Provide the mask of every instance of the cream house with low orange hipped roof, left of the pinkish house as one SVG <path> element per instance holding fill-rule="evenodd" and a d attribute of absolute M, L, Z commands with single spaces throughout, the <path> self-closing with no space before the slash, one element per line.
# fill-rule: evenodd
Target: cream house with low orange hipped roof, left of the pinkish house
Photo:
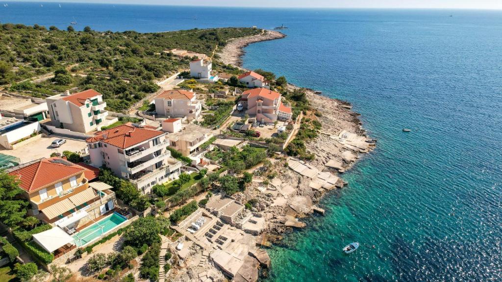
<path fill-rule="evenodd" d="M 155 111 L 165 117 L 186 117 L 188 121 L 199 118 L 202 103 L 195 99 L 195 92 L 173 89 L 155 97 Z"/>

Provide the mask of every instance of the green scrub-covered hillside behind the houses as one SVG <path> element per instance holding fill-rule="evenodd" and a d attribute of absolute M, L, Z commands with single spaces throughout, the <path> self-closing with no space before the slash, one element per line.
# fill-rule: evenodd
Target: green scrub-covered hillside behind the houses
<path fill-rule="evenodd" d="M 0 87 L 35 97 L 93 88 L 103 94 L 109 110 L 125 111 L 158 89 L 154 80 L 188 67 L 192 58 L 179 58 L 169 50 L 179 48 L 211 56 L 216 46 L 225 45 L 228 39 L 259 32 L 252 28 L 75 32 L 3 24 Z M 56 76 L 45 81 L 26 80 L 54 72 Z"/>

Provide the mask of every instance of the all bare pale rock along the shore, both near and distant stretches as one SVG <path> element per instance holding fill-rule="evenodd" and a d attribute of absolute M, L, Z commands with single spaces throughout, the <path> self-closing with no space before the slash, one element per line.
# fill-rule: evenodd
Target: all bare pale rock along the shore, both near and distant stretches
<path fill-rule="evenodd" d="M 263 31 L 260 35 L 229 40 L 218 53 L 220 62 L 242 69 L 241 56 L 244 47 L 255 42 L 284 37 L 280 32 Z M 173 281 L 196 279 L 199 271 L 204 271 L 199 275 L 211 273 L 213 278 L 218 276 L 216 273 L 221 275 L 223 272 L 228 275 L 232 272 L 234 281 L 256 281 L 259 279 L 260 267 L 273 267 L 264 250 L 281 240 L 285 233 L 295 228 L 304 228 L 306 224 L 299 219 L 314 212 L 324 214 L 324 210 L 317 206 L 322 196 L 327 191 L 343 188 L 345 183 L 340 174 L 350 169 L 363 154 L 375 147 L 375 140 L 368 138 L 358 118 L 359 114 L 351 110 L 348 102 L 329 98 L 313 89 L 300 88 L 293 84 L 287 84 L 286 89 L 304 91 L 312 109 L 302 112 L 297 123 L 303 124 L 309 120 L 320 123 L 316 136 L 305 141 L 307 152 L 313 154 L 312 157 L 300 159 L 276 154 L 270 158 L 269 171 L 274 171 L 277 176 L 269 181 L 268 176 L 255 174 L 252 183 L 243 192 L 231 197 L 235 203 L 257 203 L 247 217 L 242 216 L 240 223 L 237 223 L 238 229 L 230 227 L 232 230 L 244 230 L 250 234 L 240 231 L 240 235 L 232 237 L 232 242 L 235 241 L 235 247 L 232 248 L 202 247 L 195 251 L 193 257 L 198 257 L 199 252 L 208 251 L 213 263 L 206 263 L 203 268 L 199 266 L 200 269 L 187 267 L 179 270 L 169 277 Z M 218 209 L 224 199 L 224 196 L 213 196 L 206 208 Z M 244 255 L 237 251 L 238 249 L 249 251 Z M 233 260 L 240 261 L 239 266 L 236 267 L 237 263 Z M 264 275 L 266 272 L 260 273 Z"/>

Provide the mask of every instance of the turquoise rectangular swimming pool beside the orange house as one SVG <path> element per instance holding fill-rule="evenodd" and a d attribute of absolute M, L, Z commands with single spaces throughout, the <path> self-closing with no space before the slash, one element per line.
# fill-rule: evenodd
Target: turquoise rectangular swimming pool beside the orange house
<path fill-rule="evenodd" d="M 113 214 L 99 220 L 89 227 L 82 229 L 82 231 L 78 232 L 72 237 L 73 239 L 75 239 L 75 244 L 77 245 L 77 247 L 80 247 L 91 241 L 94 241 L 94 239 L 117 227 L 126 220 L 126 217 L 120 215 L 117 212 L 114 212 Z"/>

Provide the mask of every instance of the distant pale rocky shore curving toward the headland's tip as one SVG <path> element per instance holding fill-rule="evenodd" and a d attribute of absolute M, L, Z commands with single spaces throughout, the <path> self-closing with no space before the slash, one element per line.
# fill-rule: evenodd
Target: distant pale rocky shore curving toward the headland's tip
<path fill-rule="evenodd" d="M 256 42 L 281 39 L 285 37 L 285 34 L 278 31 L 262 30 L 262 33 L 259 35 L 229 40 L 225 47 L 223 47 L 223 49 L 218 53 L 220 56 L 219 60 L 226 65 L 241 67 L 241 58 L 242 55 L 244 55 L 244 48 L 246 46 Z"/>

